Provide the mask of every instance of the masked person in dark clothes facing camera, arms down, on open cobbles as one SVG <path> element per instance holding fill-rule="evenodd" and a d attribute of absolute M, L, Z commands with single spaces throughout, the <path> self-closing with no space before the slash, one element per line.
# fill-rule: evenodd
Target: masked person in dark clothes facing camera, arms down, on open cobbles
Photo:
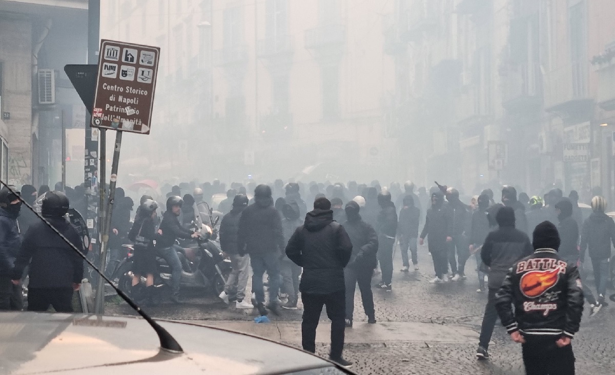
<path fill-rule="evenodd" d="M 451 231 L 453 223 L 450 212 L 444 206 L 444 195 L 436 190 L 431 195 L 431 208 L 427 210 L 425 225 L 419 239 L 423 245 L 425 238 L 429 236 L 429 252 L 434 260 L 435 278 L 431 284 L 440 284 L 446 281 L 448 273 L 448 249 L 447 242 L 453 241 Z"/>

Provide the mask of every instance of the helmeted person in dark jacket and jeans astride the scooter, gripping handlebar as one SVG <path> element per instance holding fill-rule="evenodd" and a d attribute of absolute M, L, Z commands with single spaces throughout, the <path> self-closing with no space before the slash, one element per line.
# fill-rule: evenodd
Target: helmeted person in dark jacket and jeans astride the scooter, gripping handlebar
<path fill-rule="evenodd" d="M 179 196 L 171 196 L 167 199 L 167 211 L 162 215 L 162 222 L 158 230 L 159 236 L 156 239 L 156 250 L 160 257 L 167 261 L 171 268 L 171 301 L 180 301 L 180 282 L 181 282 L 181 261 L 177 255 L 182 251 L 181 247 L 175 244 L 177 239 L 198 238 L 199 233 L 188 230 L 181 226 L 179 215 L 181 205 L 184 203 Z"/>

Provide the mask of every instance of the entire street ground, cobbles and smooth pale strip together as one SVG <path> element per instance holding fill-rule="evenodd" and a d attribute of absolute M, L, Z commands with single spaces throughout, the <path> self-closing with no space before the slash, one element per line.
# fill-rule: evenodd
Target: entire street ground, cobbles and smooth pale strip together
<path fill-rule="evenodd" d="M 367 324 L 357 290 L 355 327 L 347 330 L 345 357 L 355 362 L 358 374 L 523 374 L 521 348 L 510 341 L 504 328 L 496 327 L 490 346 L 491 360 L 478 362 L 474 353 L 486 302 L 480 295 L 474 258 L 467 263 L 468 279 L 445 285 L 431 285 L 431 258 L 426 247 L 419 249 L 417 273 L 399 272 L 395 257 L 393 292 L 374 290 L 376 319 Z M 379 281 L 379 279 L 375 279 Z M 301 311 L 284 311 L 272 316 L 272 323 L 252 322 L 255 312 L 226 307 L 200 291 L 186 293 L 187 303 L 178 310 L 169 303 L 151 309 L 161 319 L 198 320 L 203 325 L 243 331 L 300 347 Z M 587 306 L 586 306 L 587 307 Z M 107 307 L 108 313 L 132 314 L 126 305 Z M 615 360 L 615 309 L 606 307 L 597 317 L 584 313 L 581 331 L 573 341 L 577 373 L 613 373 Z M 499 323 L 498 323 L 499 324 Z M 328 353 L 328 320 L 322 315 L 317 334 L 318 353 Z"/>

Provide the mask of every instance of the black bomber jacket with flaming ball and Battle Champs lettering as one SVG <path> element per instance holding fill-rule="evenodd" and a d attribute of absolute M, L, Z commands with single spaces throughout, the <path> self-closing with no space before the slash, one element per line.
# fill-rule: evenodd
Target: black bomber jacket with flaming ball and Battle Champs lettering
<path fill-rule="evenodd" d="M 508 333 L 573 338 L 583 312 L 579 270 L 557 251 L 538 249 L 510 268 L 496 293 L 496 309 Z"/>

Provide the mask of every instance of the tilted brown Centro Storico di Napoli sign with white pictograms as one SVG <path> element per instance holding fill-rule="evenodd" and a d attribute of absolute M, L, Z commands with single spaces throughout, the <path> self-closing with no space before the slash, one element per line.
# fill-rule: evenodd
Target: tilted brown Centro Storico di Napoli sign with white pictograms
<path fill-rule="evenodd" d="M 149 134 L 160 48 L 100 42 L 92 127 Z"/>

